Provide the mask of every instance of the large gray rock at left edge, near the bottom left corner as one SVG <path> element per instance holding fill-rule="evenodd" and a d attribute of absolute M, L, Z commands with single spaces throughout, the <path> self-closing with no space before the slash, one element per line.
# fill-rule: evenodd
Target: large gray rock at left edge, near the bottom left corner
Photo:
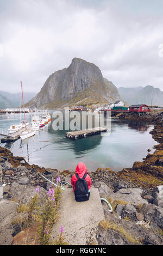
<path fill-rule="evenodd" d="M 17 202 L 0 201 L 0 245 L 11 245 L 14 229 L 11 225 L 17 214 Z"/>

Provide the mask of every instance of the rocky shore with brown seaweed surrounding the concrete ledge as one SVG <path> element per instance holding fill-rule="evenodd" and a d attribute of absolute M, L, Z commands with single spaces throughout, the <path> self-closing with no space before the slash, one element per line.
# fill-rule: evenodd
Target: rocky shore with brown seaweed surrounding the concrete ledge
<path fill-rule="evenodd" d="M 89 173 L 92 186 L 98 188 L 100 196 L 111 203 L 114 211 L 110 213 L 103 202 L 105 220 L 87 237 L 88 244 L 163 244 L 163 113 L 155 114 L 153 121 L 151 134 L 158 142 L 153 154 L 148 153 L 142 162 L 135 162 L 133 168 L 120 172 L 98 168 Z M 50 183 L 40 174 L 54 181 L 60 176 L 61 181 L 68 182 L 72 176 L 68 170 L 60 173 L 57 169 L 29 165 L 23 157 L 14 157 L 9 149 L 0 148 L 0 185 L 5 184 L 0 200 L 1 245 L 24 244 L 20 227 L 11 222 L 18 203 L 27 203 L 36 185 L 40 187 L 41 202 L 45 200 Z M 28 229 L 28 233 L 31 237 L 26 244 L 31 244 L 35 228 Z"/>

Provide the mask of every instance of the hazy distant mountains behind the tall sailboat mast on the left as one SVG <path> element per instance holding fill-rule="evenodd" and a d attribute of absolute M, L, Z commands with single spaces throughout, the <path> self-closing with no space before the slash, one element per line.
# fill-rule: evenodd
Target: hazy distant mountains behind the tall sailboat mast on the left
<path fill-rule="evenodd" d="M 36 93 L 24 93 L 24 103 L 31 100 Z M 20 107 L 21 103 L 21 92 L 20 93 L 8 93 L 0 91 L 0 108 Z"/>

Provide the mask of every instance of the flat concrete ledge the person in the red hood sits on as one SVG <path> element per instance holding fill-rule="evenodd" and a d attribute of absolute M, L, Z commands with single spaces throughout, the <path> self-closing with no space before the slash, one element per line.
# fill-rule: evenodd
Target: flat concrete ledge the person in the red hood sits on
<path fill-rule="evenodd" d="M 72 188 L 67 188 L 62 195 L 60 212 L 61 216 L 54 225 L 52 238 L 57 239 L 62 225 L 69 245 L 86 245 L 92 229 L 104 219 L 97 188 L 91 188 L 90 199 L 86 202 L 76 202 Z"/>

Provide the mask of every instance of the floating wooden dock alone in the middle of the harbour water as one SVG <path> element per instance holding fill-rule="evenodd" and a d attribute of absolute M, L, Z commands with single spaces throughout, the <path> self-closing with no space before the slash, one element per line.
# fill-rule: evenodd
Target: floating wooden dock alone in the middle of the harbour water
<path fill-rule="evenodd" d="M 94 129 L 86 129 L 79 131 L 66 132 L 66 137 L 70 139 L 82 139 L 93 135 L 101 134 L 101 132 L 106 132 L 107 128 L 95 127 Z"/>

